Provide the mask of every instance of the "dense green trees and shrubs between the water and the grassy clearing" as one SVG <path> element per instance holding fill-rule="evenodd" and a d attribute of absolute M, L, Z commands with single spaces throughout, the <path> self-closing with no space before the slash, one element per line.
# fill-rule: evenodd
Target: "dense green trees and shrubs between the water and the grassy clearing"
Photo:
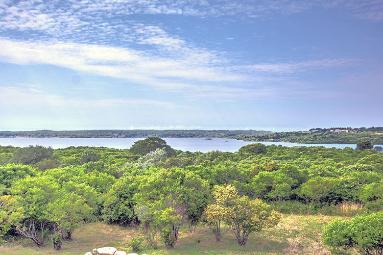
<path fill-rule="evenodd" d="M 161 146 L 152 147 L 152 140 Z M 44 151 L 39 146 L 0 146 L 0 238 L 18 234 L 38 246 L 50 239 L 60 249 L 82 222 L 106 221 L 138 225 L 135 246 L 142 240 L 155 246 L 161 238 L 172 249 L 182 225 L 193 233 L 198 224 L 210 226 L 218 241 L 232 231 L 244 245 L 251 233 L 275 225 L 277 212 L 383 210 L 383 153 L 374 149 L 254 144 L 201 153 L 173 150 L 161 140 L 142 140 L 146 154 L 45 148 L 52 153 L 38 159 L 29 150 Z M 36 160 L 15 164 L 21 156 Z"/>

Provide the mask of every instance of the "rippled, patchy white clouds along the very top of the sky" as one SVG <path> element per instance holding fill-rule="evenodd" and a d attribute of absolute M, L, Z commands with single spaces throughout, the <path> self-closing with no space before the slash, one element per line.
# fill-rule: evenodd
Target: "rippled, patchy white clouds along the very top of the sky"
<path fill-rule="evenodd" d="M 174 46 L 177 37 L 163 34 L 155 23 L 135 20 L 135 14 L 186 15 L 200 17 L 233 17 L 237 19 L 273 18 L 312 8 L 336 8 L 356 18 L 383 20 L 380 0 L 221 0 L 221 1 L 157 1 L 157 0 L 40 0 L 2 1 L 0 30 L 23 32 L 45 38 L 110 44 L 149 43 Z"/>

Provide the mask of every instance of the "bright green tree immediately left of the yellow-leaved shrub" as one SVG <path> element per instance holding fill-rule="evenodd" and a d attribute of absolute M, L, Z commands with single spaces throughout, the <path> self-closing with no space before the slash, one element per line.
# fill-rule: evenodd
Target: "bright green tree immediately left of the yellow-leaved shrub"
<path fill-rule="evenodd" d="M 138 218 L 151 227 L 157 226 L 166 248 L 173 249 L 180 226 L 186 220 L 198 222 L 198 214 L 202 214 L 201 208 L 207 203 L 207 183 L 180 168 L 150 168 L 145 175 L 136 176 L 135 183 L 138 184 L 135 208 L 145 209 L 144 216 L 138 215 Z M 192 203 L 196 205 L 192 207 Z"/>

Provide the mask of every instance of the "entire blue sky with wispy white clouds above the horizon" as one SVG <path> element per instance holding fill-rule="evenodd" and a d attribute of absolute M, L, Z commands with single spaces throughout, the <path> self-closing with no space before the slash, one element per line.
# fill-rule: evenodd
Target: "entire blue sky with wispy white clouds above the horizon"
<path fill-rule="evenodd" d="M 0 130 L 383 126 L 383 0 L 0 0 Z"/>

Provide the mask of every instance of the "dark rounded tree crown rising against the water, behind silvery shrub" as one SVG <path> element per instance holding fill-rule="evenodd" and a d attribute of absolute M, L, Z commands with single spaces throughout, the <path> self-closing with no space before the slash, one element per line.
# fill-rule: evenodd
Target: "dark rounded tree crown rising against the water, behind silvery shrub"
<path fill-rule="evenodd" d="M 165 140 L 155 136 L 135 142 L 129 150 L 132 154 L 143 156 L 158 148 L 165 148 L 167 157 L 175 155 L 174 149 L 167 145 Z"/>

